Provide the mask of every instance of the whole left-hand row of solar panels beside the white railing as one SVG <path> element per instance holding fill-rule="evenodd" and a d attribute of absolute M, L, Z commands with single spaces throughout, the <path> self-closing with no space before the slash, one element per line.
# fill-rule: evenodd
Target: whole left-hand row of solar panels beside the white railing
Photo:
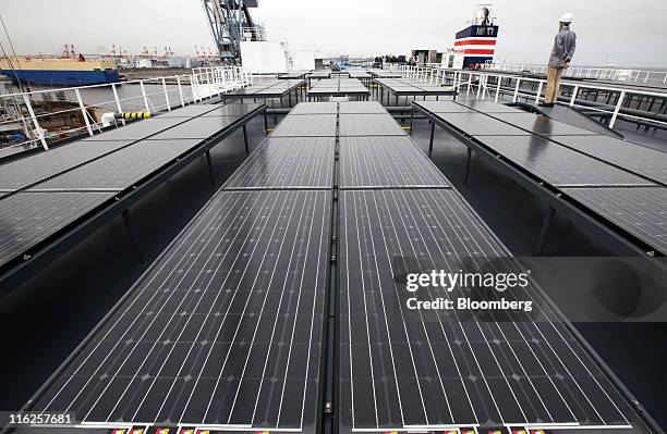
<path fill-rule="evenodd" d="M 189 113 L 202 113 L 185 109 Z M 245 116 L 203 117 L 199 114 L 199 117 L 144 120 L 97 136 L 118 138 L 119 132 L 130 128 L 130 136 L 138 137 L 132 126 L 148 125 L 142 128 L 146 136 L 134 141 L 84 139 L 3 165 L 0 181 L 8 194 L 0 196 L 0 266 L 4 269 L 24 255 L 29 259 L 43 240 L 90 215 L 107 200 L 136 187 L 179 158 L 202 150 L 206 139 L 240 126 L 242 117 L 248 119 L 263 109 L 254 104 L 254 112 Z M 206 108 L 210 110 L 219 112 L 219 109 Z M 181 127 L 186 134 L 180 133 Z M 178 139 L 165 137 L 167 133 Z M 195 138 L 185 137 L 190 135 Z"/>

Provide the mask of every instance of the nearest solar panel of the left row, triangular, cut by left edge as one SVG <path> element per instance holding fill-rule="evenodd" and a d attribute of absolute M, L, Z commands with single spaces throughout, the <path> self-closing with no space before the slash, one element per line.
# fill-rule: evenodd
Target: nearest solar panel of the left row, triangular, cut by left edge
<path fill-rule="evenodd" d="M 109 193 L 17 193 L 0 201 L 0 265 L 113 197 Z"/>

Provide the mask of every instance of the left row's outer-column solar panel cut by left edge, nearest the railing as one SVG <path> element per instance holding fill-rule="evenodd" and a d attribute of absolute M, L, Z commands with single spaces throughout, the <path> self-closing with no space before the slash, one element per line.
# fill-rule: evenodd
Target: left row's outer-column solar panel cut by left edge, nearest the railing
<path fill-rule="evenodd" d="M 78 140 L 0 165 L 0 189 L 17 190 L 130 145 L 129 140 Z"/>

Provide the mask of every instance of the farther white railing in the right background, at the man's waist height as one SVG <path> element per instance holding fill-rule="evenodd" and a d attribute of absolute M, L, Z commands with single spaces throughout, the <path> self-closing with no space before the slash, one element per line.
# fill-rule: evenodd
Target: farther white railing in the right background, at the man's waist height
<path fill-rule="evenodd" d="M 524 72 L 532 74 L 546 74 L 547 66 L 538 64 L 520 64 L 492 62 L 482 65 L 484 70 L 493 70 L 500 72 Z M 648 71 L 635 70 L 626 67 L 586 67 L 571 66 L 563 71 L 566 77 L 577 78 L 596 78 L 618 82 L 635 82 L 646 84 L 667 84 L 667 71 Z"/>

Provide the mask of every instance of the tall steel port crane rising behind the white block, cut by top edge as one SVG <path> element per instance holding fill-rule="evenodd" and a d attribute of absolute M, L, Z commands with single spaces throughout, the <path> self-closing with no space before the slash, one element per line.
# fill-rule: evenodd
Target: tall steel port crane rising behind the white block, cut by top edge
<path fill-rule="evenodd" d="M 250 8 L 257 0 L 202 0 L 218 54 L 237 63 L 241 59 L 241 41 L 258 40 Z"/>

